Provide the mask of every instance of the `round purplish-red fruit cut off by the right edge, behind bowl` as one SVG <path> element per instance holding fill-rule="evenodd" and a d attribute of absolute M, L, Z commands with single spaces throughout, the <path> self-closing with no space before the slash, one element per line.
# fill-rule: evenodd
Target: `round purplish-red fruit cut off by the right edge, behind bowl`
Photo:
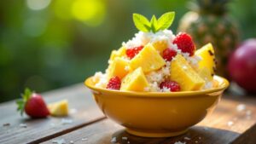
<path fill-rule="evenodd" d="M 230 78 L 248 92 L 256 92 L 256 39 L 241 44 L 229 60 Z"/>

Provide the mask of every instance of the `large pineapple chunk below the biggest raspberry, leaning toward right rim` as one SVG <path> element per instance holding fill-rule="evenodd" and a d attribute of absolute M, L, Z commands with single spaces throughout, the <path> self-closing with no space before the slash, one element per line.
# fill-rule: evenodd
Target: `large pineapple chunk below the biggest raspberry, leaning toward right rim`
<path fill-rule="evenodd" d="M 182 91 L 198 90 L 205 84 L 182 55 L 176 55 L 172 60 L 170 78 L 180 84 Z"/>

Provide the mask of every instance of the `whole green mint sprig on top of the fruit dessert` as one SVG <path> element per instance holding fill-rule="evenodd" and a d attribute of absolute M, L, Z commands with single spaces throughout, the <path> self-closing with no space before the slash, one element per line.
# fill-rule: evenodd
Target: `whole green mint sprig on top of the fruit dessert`
<path fill-rule="evenodd" d="M 172 26 L 174 17 L 175 12 L 168 12 L 166 14 L 162 14 L 159 19 L 156 19 L 155 15 L 153 15 L 149 21 L 142 14 L 133 14 L 133 22 L 139 31 L 155 33 L 160 30 L 166 30 Z"/>

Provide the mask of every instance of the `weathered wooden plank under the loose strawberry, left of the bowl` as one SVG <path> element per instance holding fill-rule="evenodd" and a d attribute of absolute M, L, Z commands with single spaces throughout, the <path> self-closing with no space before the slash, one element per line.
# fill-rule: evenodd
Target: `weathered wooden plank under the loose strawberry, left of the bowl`
<path fill-rule="evenodd" d="M 16 112 L 15 101 L 0 105 L 0 143 L 38 143 L 58 135 L 63 135 L 72 130 L 79 129 L 105 118 L 97 108 L 89 89 L 84 84 L 76 84 L 64 89 L 57 89 L 44 93 L 47 102 L 67 99 L 70 115 L 67 118 L 21 118 Z M 76 112 L 77 111 L 77 112 Z M 3 126 L 10 124 L 9 126 Z M 27 127 L 20 127 L 26 124 Z"/>

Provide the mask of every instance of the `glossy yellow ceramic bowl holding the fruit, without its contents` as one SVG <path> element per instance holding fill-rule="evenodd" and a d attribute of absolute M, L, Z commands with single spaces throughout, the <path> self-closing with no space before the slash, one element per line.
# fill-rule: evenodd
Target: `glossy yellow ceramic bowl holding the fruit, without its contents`
<path fill-rule="evenodd" d="M 132 92 L 96 88 L 92 78 L 84 84 L 91 89 L 102 112 L 132 135 L 169 137 L 181 135 L 199 123 L 216 107 L 229 86 L 214 76 L 218 88 L 174 93 Z"/>

